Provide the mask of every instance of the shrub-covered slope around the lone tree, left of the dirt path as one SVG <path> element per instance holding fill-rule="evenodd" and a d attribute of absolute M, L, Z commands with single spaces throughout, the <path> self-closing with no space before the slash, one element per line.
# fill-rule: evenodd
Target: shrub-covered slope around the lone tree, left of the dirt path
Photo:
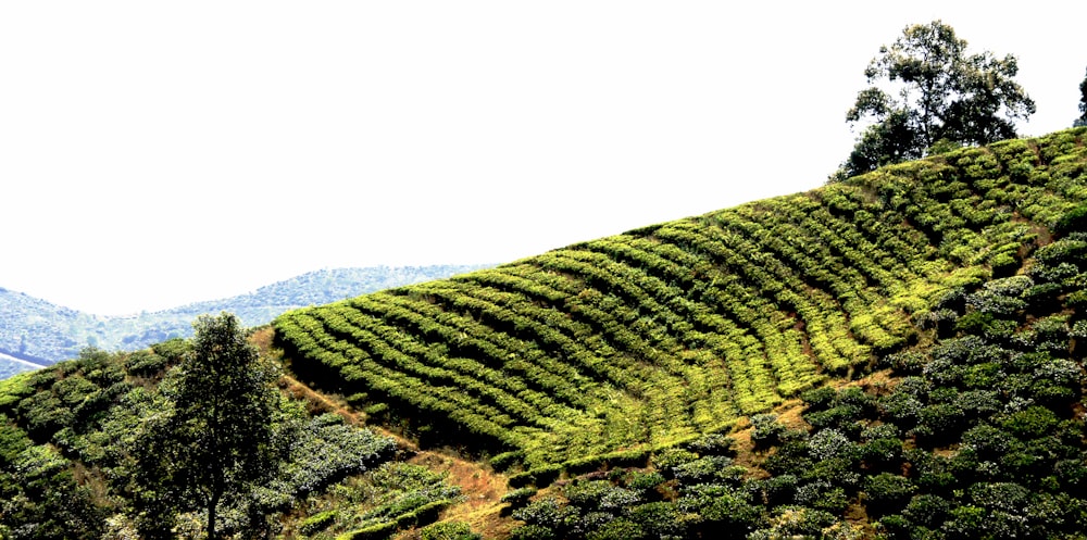
<path fill-rule="evenodd" d="M 0 538 L 208 537 L 207 507 L 179 505 L 179 514 L 172 507 L 184 494 L 175 488 L 199 480 L 207 464 L 178 454 L 191 449 L 160 453 L 177 445 L 160 437 L 164 430 L 191 425 L 180 422 L 182 389 L 196 379 L 180 366 L 199 357 L 199 348 L 178 339 L 132 353 L 86 349 L 76 360 L 0 381 Z M 302 402 L 275 395 L 278 466 L 247 497 L 223 500 L 216 535 L 393 532 L 426 525 L 459 500 L 443 477 L 393 461 L 399 451 L 392 439 L 320 409 L 310 406 L 308 414 Z M 243 435 L 265 426 L 240 424 L 236 431 Z M 149 461 L 167 456 L 177 462 Z"/>

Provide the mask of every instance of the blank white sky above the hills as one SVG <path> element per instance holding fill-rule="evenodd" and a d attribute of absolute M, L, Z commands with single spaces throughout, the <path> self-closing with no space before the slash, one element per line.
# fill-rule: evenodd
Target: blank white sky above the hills
<path fill-rule="evenodd" d="M 737 3 L 2 2 L 0 287 L 123 314 L 808 190 L 934 18 L 1019 58 L 1021 133 L 1078 115 L 1087 4 Z"/>

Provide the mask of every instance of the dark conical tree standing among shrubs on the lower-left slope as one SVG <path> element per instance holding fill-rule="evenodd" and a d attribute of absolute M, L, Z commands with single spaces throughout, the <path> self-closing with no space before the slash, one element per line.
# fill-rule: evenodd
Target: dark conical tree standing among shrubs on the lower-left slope
<path fill-rule="evenodd" d="M 223 313 L 193 323 L 192 348 L 163 380 L 162 403 L 137 444 L 141 491 L 137 522 L 165 536 L 180 512 L 203 512 L 209 539 L 218 538 L 224 508 L 277 472 L 278 372 Z"/>

